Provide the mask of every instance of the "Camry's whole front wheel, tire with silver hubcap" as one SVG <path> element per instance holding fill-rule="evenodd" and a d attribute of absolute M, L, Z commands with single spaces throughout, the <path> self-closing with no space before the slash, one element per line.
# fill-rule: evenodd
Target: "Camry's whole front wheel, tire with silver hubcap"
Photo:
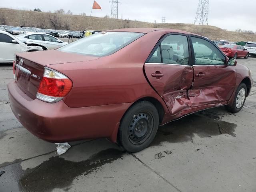
<path fill-rule="evenodd" d="M 246 100 L 246 95 L 247 95 L 246 84 L 241 83 L 236 90 L 236 94 L 235 94 L 234 101 L 233 101 L 232 105 L 225 106 L 226 110 L 228 110 L 231 113 L 239 112 L 244 106 L 244 103 Z"/>

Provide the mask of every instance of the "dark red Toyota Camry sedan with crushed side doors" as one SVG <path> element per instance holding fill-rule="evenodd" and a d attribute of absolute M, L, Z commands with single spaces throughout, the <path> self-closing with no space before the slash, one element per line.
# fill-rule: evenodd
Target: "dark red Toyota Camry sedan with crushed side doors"
<path fill-rule="evenodd" d="M 217 106 L 240 111 L 252 86 L 250 70 L 210 40 L 156 28 L 20 53 L 13 72 L 10 106 L 32 134 L 50 142 L 106 137 L 128 152 L 185 115 Z"/>

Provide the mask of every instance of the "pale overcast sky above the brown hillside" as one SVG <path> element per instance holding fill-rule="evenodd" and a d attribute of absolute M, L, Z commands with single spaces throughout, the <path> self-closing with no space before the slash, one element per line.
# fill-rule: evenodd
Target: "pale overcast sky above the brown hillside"
<path fill-rule="evenodd" d="M 94 0 L 0 0 L 6 8 L 54 11 L 63 8 L 73 14 L 90 15 Z M 93 10 L 92 16 L 110 16 L 111 0 L 96 0 L 102 10 Z M 118 18 L 145 22 L 194 23 L 199 0 L 120 0 Z M 210 0 L 209 25 L 222 29 L 253 30 L 256 32 L 256 0 Z"/>

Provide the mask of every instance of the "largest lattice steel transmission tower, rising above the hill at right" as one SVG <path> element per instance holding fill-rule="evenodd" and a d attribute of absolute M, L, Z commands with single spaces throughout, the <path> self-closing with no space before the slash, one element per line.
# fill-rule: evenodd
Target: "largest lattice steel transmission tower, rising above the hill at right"
<path fill-rule="evenodd" d="M 209 0 L 199 0 L 194 24 L 208 25 Z"/>

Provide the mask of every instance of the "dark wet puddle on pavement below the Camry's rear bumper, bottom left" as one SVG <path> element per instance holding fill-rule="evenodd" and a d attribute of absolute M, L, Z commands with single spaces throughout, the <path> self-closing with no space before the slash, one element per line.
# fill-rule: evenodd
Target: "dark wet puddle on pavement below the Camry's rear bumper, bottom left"
<path fill-rule="evenodd" d="M 60 156 L 51 157 L 39 166 L 22 170 L 20 163 L 6 166 L 1 176 L 0 191 L 36 191 L 50 192 L 54 188 L 65 189 L 72 184 L 77 176 L 88 175 L 94 170 L 100 170 L 104 164 L 122 159 L 123 151 L 110 148 L 91 156 L 88 160 L 73 162 Z"/>

